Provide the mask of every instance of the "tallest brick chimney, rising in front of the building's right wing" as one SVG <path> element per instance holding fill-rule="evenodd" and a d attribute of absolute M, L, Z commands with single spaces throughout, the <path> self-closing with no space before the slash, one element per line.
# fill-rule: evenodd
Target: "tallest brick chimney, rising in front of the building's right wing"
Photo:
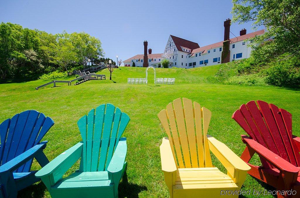
<path fill-rule="evenodd" d="M 230 22 L 231 22 L 230 19 L 226 19 L 224 21 L 224 41 L 223 41 L 223 49 L 222 49 L 222 55 L 221 55 L 221 63 L 230 62 L 230 50 L 229 50 Z"/>

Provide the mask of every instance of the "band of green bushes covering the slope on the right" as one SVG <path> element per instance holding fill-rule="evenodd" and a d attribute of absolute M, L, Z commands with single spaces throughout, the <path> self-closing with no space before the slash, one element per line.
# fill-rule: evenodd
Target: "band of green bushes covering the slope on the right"
<path fill-rule="evenodd" d="M 220 64 L 214 76 L 207 77 L 210 83 L 274 85 L 300 88 L 300 60 L 292 57 L 284 61 L 256 63 L 253 58 Z"/>

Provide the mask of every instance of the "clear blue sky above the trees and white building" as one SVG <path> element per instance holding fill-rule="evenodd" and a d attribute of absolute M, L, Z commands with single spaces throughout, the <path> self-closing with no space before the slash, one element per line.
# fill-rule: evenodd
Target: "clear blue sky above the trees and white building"
<path fill-rule="evenodd" d="M 105 57 L 124 61 L 143 54 L 144 40 L 152 53 L 162 53 L 170 34 L 199 46 L 223 40 L 231 7 L 231 0 L 0 0 L 0 21 L 52 34 L 85 31 L 101 40 Z M 238 36 L 241 28 L 253 31 L 251 23 L 230 30 Z"/>

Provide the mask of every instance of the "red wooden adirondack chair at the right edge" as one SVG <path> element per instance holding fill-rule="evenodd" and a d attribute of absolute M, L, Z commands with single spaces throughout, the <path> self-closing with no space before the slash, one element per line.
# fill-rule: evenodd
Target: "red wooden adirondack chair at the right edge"
<path fill-rule="evenodd" d="M 241 159 L 251 167 L 251 176 L 277 191 L 295 190 L 295 197 L 299 197 L 300 138 L 292 135 L 292 114 L 264 101 L 258 100 L 257 105 L 250 101 L 232 115 L 250 136 L 241 136 L 246 144 Z M 249 164 L 254 153 L 259 155 L 262 166 Z M 283 197 L 279 193 L 277 196 Z"/>

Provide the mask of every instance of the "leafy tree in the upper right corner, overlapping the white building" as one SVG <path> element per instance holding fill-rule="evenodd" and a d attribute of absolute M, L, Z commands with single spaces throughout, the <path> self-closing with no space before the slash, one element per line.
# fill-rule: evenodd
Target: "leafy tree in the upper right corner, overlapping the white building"
<path fill-rule="evenodd" d="M 265 34 L 251 39 L 256 60 L 300 57 L 299 0 L 233 0 L 232 3 L 232 22 L 253 22 L 254 29 L 262 25 L 267 29 Z"/>

